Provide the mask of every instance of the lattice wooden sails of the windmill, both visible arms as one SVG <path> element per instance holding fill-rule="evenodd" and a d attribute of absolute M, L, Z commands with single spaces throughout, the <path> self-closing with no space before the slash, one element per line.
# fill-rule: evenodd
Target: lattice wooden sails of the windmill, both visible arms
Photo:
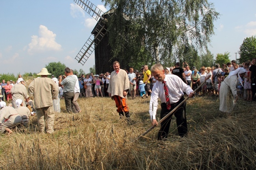
<path fill-rule="evenodd" d="M 108 32 L 108 30 L 106 30 L 105 28 L 105 19 L 102 17 L 104 12 L 101 11 L 97 6 L 95 6 L 89 0 L 74 0 L 74 2 L 80 7 L 82 7 L 82 9 L 84 9 L 90 16 L 92 16 L 98 22 L 98 25 L 94 30 L 95 32 L 97 32 L 97 35 L 95 36 L 91 34 L 91 36 L 88 38 L 82 49 L 75 57 L 75 59 L 79 63 L 84 65 L 84 63 L 90 57 L 91 53 L 93 53 L 95 47 L 99 44 L 99 42 L 106 34 L 106 32 Z M 101 19 L 101 21 L 99 21 L 99 19 Z"/>

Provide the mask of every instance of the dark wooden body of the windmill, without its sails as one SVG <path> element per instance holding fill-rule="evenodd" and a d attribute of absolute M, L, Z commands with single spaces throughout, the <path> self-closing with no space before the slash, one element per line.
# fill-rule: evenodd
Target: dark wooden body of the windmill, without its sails
<path fill-rule="evenodd" d="M 105 14 L 102 15 L 103 18 L 106 16 L 109 17 L 109 15 Z M 102 23 L 102 19 L 99 20 L 100 23 Z M 98 27 L 99 30 L 99 24 L 97 24 L 93 31 L 91 32 L 92 34 L 96 35 L 98 32 L 96 31 Z M 98 44 L 95 47 L 95 69 L 96 69 L 96 74 L 100 73 L 106 73 L 106 72 L 112 72 L 114 71 L 113 69 L 113 62 L 118 61 L 120 63 L 120 68 L 122 69 L 127 69 L 129 71 L 129 59 L 120 59 L 120 58 L 112 58 L 111 55 L 111 47 L 109 45 L 109 36 L 108 33 L 105 34 L 105 36 L 101 39 L 100 42 L 97 42 Z"/>

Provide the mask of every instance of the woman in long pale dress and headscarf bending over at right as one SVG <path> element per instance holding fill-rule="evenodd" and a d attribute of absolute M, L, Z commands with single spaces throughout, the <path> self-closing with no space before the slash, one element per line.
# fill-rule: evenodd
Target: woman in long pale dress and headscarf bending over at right
<path fill-rule="evenodd" d="M 242 79 L 245 75 L 245 69 L 239 67 L 234 71 L 231 71 L 227 78 L 221 83 L 219 89 L 219 110 L 227 113 L 231 113 L 234 103 L 238 100 L 237 85 L 238 78 Z M 242 82 L 242 80 L 241 80 Z M 231 91 L 230 91 L 231 90 Z"/>

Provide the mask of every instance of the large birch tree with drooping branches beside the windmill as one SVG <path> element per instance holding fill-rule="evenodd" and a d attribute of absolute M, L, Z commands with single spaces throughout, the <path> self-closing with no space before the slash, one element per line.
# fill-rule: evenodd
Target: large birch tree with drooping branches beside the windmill
<path fill-rule="evenodd" d="M 134 67 L 179 61 L 188 45 L 207 49 L 219 15 L 207 0 L 104 1 L 115 13 L 108 19 L 113 57 Z"/>

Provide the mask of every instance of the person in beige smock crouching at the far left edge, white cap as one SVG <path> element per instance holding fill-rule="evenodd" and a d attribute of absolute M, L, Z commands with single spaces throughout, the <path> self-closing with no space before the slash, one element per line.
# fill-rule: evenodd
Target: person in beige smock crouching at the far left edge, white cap
<path fill-rule="evenodd" d="M 6 106 L 6 103 L 3 101 L 0 102 L 0 108 L 0 133 L 6 131 L 8 134 L 11 134 L 12 130 L 9 128 L 22 123 L 22 117 L 13 107 Z"/>

